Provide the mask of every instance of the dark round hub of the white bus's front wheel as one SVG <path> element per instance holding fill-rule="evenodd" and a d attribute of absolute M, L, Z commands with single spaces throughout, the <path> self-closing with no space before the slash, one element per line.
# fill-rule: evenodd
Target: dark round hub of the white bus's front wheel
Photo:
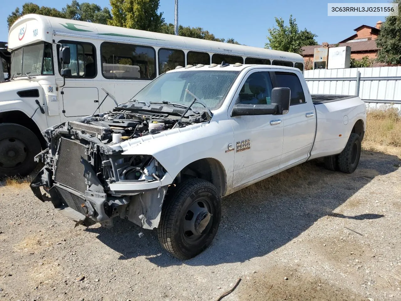
<path fill-rule="evenodd" d="M 0 140 L 0 167 L 17 167 L 25 161 L 26 152 L 26 145 L 21 140 L 15 138 Z"/>

